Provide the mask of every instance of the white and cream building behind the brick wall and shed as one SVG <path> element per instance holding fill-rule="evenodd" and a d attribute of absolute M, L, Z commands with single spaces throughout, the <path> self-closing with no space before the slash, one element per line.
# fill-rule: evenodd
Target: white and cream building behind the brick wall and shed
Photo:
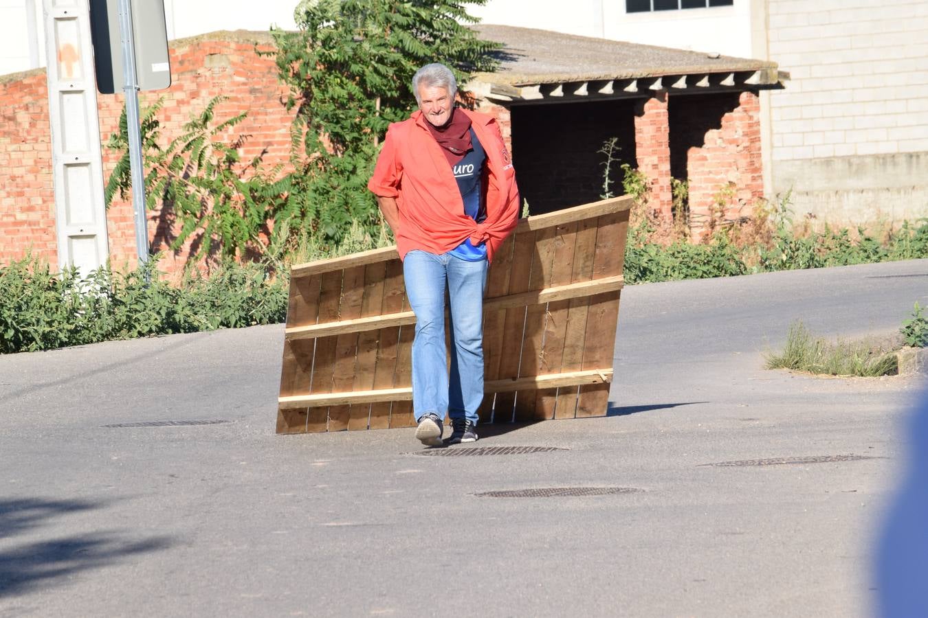
<path fill-rule="evenodd" d="M 0 74 L 44 64 L 42 2 L 0 0 Z M 296 4 L 165 0 L 168 33 L 292 28 Z M 836 223 L 928 216 L 928 2 L 490 0 L 471 12 L 777 62 L 792 81 L 762 94 L 767 194 L 792 189 L 796 214 Z"/>

